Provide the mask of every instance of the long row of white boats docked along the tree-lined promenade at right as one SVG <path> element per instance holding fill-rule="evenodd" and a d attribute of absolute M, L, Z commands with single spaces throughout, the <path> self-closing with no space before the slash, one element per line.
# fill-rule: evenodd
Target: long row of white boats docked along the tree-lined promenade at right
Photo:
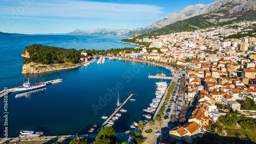
<path fill-rule="evenodd" d="M 155 92 L 156 98 L 152 100 L 152 103 L 150 103 L 150 107 L 147 107 L 147 109 L 143 109 L 144 113 L 147 113 L 143 115 L 146 119 L 151 119 L 151 115 L 156 112 L 156 109 L 159 105 L 159 103 L 162 100 L 162 97 L 167 89 L 167 83 L 166 82 L 156 82 L 157 90 Z"/>

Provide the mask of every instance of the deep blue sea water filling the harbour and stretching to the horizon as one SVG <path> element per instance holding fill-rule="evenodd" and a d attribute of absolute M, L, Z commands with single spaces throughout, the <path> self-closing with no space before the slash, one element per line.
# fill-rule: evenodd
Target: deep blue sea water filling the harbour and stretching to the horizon
<path fill-rule="evenodd" d="M 116 108 L 119 92 L 120 102 L 130 93 L 135 102 L 128 101 L 123 109 L 127 112 L 116 121 L 116 132 L 131 130 L 133 122 L 143 120 L 143 108 L 156 98 L 156 82 L 148 75 L 164 73 L 171 76 L 164 67 L 152 64 L 109 60 L 105 63 L 91 63 L 76 69 L 52 71 L 45 74 L 22 74 L 24 58 L 21 53 L 29 44 L 58 46 L 66 49 L 108 50 L 135 47 L 119 42 L 125 36 L 74 36 L 74 35 L 21 35 L 0 36 L 0 90 L 21 86 L 41 80 L 63 79 L 62 83 L 48 85 L 26 93 L 11 93 L 7 102 L 0 100 L 0 137 L 17 137 L 20 130 L 44 131 L 44 135 L 89 134 L 92 125 L 105 121 L 101 116 L 110 116 Z M 163 80 L 170 83 L 170 80 Z M 8 103 L 4 111 L 4 103 Z M 8 116 L 4 117 L 8 112 Z M 7 124 L 7 125 L 6 125 Z"/>

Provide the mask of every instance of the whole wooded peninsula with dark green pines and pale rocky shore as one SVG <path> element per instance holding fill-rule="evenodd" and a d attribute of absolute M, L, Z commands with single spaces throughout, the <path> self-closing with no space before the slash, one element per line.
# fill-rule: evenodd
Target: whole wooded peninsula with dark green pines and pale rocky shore
<path fill-rule="evenodd" d="M 22 57 L 22 74 L 40 74 L 54 70 L 77 68 L 83 63 L 80 58 L 82 50 L 32 44 L 25 47 Z"/>

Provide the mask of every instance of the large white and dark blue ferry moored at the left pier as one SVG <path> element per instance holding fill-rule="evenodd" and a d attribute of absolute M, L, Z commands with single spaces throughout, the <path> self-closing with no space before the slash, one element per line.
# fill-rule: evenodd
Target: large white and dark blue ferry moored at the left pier
<path fill-rule="evenodd" d="M 39 89 L 42 87 L 46 87 L 45 82 L 39 82 L 39 83 L 30 85 L 29 79 L 28 79 L 28 81 L 26 83 L 25 82 L 23 83 L 23 86 L 15 87 L 14 89 L 17 92 L 25 92 L 25 91 L 30 91 L 30 90 L 34 90 L 34 89 Z"/>

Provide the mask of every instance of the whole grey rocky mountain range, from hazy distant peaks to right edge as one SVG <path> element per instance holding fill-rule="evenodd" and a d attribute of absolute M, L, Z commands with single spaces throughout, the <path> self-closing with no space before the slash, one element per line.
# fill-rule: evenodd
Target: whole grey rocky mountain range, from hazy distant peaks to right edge
<path fill-rule="evenodd" d="M 161 29 L 165 26 L 173 25 L 177 21 L 186 20 L 191 17 L 215 13 L 214 16 L 210 16 L 209 19 L 201 19 L 203 22 L 210 21 L 209 23 L 219 23 L 232 21 L 235 19 L 243 20 L 243 16 L 256 9 L 255 0 L 219 0 L 209 5 L 191 5 L 185 7 L 179 13 L 170 13 L 165 18 L 154 22 L 151 26 L 145 28 L 137 28 L 133 30 L 126 29 L 95 29 L 95 30 L 75 30 L 73 32 L 67 33 L 67 35 L 134 35 L 137 33 L 146 33 L 154 30 Z M 242 16 L 241 16 L 242 15 Z M 254 13 L 255 15 L 255 13 Z M 231 16 L 231 17 L 230 17 Z M 214 18 L 213 18 L 214 17 Z M 219 17 L 219 18 L 218 18 Z M 206 21 L 204 21 L 206 20 Z M 194 21 L 195 22 L 195 21 Z M 207 25 L 207 22 L 205 23 Z M 193 27 L 193 26 L 192 26 Z M 194 26 L 193 28 L 198 28 Z"/>

